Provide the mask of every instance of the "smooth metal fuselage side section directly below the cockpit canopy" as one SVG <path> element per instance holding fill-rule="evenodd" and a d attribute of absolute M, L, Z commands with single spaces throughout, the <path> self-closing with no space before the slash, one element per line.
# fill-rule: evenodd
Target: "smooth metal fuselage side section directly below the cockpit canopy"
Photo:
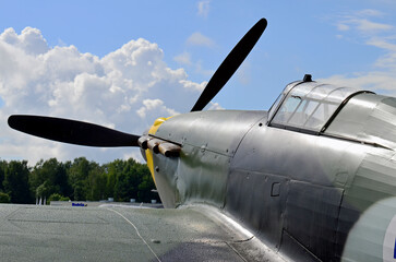
<path fill-rule="evenodd" d="M 227 210 L 280 252 L 301 261 L 331 258 L 344 188 L 363 157 L 360 147 L 325 136 L 255 127 L 232 162 Z M 276 196 L 272 195 L 274 183 L 279 184 Z"/>

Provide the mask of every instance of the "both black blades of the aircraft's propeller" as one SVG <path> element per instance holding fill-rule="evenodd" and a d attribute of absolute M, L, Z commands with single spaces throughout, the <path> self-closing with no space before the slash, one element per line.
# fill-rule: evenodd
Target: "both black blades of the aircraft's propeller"
<path fill-rule="evenodd" d="M 237 71 L 263 34 L 267 21 L 261 19 L 233 47 L 214 73 L 191 111 L 202 110 Z M 140 135 L 128 134 L 94 123 L 62 118 L 14 115 L 9 126 L 43 139 L 87 146 L 139 146 Z"/>

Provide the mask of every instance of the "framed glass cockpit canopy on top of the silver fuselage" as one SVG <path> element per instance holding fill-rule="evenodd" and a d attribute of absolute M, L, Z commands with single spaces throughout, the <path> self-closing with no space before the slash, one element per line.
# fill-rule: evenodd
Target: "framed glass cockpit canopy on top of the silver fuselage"
<path fill-rule="evenodd" d="M 269 109 L 268 126 L 323 132 L 338 108 L 361 92 L 317 82 L 290 83 Z"/>

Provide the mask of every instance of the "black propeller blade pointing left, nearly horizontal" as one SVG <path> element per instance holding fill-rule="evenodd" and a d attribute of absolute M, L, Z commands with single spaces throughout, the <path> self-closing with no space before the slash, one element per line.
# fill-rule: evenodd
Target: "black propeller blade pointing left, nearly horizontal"
<path fill-rule="evenodd" d="M 63 143 L 87 146 L 139 146 L 139 135 L 75 120 L 14 115 L 9 126 L 24 133 Z"/>

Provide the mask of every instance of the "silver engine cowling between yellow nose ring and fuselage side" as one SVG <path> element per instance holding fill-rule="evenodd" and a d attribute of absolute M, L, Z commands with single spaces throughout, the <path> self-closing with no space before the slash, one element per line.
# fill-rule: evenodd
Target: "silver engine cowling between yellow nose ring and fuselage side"
<path fill-rule="evenodd" d="M 155 174 L 156 180 L 167 178 L 164 186 L 157 182 L 165 206 L 199 202 L 224 207 L 231 157 L 244 134 L 263 117 L 261 111 L 219 110 L 179 115 L 164 122 L 156 138 L 182 146 L 178 158 L 155 156 L 155 163 L 172 168 L 159 168 L 167 174 Z M 203 128 L 206 131 L 202 132 Z M 168 193 L 172 196 L 165 196 Z"/>

